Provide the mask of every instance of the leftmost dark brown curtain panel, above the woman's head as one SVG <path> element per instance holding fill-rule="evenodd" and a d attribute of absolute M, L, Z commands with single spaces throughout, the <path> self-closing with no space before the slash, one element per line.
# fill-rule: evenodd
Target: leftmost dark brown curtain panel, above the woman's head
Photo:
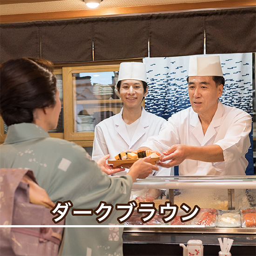
<path fill-rule="evenodd" d="M 0 62 L 40 57 L 40 32 L 35 22 L 0 25 Z"/>

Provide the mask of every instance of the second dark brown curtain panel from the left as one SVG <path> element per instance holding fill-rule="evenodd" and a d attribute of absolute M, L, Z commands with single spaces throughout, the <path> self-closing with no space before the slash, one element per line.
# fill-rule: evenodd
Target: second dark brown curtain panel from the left
<path fill-rule="evenodd" d="M 40 23 L 41 56 L 52 62 L 93 61 L 92 23 L 86 20 Z"/>

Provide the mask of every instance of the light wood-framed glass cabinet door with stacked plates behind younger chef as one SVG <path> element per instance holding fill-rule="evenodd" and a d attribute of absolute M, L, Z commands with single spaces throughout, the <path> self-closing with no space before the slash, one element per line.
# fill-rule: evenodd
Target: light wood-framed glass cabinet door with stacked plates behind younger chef
<path fill-rule="evenodd" d="M 120 112 L 118 70 L 119 65 L 63 67 L 65 139 L 90 147 L 95 125 Z"/>

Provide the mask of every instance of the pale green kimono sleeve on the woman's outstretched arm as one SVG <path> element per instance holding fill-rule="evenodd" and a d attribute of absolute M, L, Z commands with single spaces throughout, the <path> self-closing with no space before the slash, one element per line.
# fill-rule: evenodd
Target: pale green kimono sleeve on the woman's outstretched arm
<path fill-rule="evenodd" d="M 62 152 L 57 160 L 60 164 L 51 177 L 50 198 L 53 201 L 70 200 L 74 208 L 95 209 L 101 201 L 129 199 L 132 186 L 130 175 L 112 179 L 101 171 L 84 148 L 70 142 L 61 145 Z M 68 163 L 65 171 L 60 169 L 62 163 Z"/>

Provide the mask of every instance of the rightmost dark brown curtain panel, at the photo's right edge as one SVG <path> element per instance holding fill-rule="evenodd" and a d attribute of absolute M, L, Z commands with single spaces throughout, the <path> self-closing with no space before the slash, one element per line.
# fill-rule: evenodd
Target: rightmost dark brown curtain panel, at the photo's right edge
<path fill-rule="evenodd" d="M 205 33 L 207 54 L 256 52 L 256 8 L 209 12 Z"/>

